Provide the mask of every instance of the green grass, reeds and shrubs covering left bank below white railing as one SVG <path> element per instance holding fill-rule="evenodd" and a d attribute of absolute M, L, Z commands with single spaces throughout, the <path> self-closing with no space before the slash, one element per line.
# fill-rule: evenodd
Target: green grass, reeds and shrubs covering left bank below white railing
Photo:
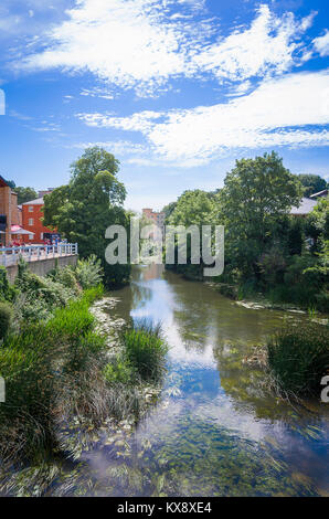
<path fill-rule="evenodd" d="M 63 439 L 73 422 L 94 430 L 109 416 L 137 419 L 142 384 L 160 382 L 167 348 L 159 328 L 131 324 L 120 337 L 120 353 L 108 351 L 107 337 L 91 313 L 103 297 L 100 275 L 95 260 L 56 269 L 47 278 L 21 264 L 11 300 L 3 297 L 2 468 L 74 457 L 76 444 Z"/>

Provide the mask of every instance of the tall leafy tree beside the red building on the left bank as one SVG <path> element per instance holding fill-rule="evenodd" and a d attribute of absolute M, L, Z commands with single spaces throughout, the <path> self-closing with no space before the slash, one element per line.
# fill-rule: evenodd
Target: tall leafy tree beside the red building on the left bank
<path fill-rule="evenodd" d="M 71 181 L 44 198 L 44 224 L 59 229 L 70 242 L 77 242 L 79 255 L 95 254 L 102 260 L 105 282 L 124 283 L 129 265 L 108 265 L 105 231 L 109 225 L 128 227 L 123 208 L 126 189 L 116 177 L 119 161 L 99 147 L 88 148 L 71 166 Z"/>

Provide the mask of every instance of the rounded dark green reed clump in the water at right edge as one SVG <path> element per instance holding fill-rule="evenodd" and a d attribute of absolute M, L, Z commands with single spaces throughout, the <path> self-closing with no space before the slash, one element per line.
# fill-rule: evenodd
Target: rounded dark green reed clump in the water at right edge
<path fill-rule="evenodd" d="M 268 367 L 282 393 L 297 396 L 320 393 L 329 372 L 328 326 L 285 327 L 267 343 Z"/>

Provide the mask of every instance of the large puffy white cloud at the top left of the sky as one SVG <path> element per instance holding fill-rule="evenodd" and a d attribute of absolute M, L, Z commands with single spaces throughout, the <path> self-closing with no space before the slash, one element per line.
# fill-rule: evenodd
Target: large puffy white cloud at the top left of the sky
<path fill-rule="evenodd" d="M 53 29 L 49 47 L 29 68 L 91 71 L 121 87 L 161 85 L 184 70 L 183 38 L 163 21 L 156 0 L 79 0 Z"/>

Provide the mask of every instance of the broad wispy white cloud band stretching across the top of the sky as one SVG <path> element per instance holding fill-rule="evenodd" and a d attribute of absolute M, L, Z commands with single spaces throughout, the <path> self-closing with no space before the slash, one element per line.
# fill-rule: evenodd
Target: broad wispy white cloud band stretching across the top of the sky
<path fill-rule="evenodd" d="M 263 4 L 250 27 L 224 38 L 215 19 L 191 18 L 203 6 L 198 0 L 78 0 L 66 11 L 68 19 L 44 38 L 45 49 L 18 66 L 92 72 L 152 96 L 169 78 L 214 74 L 220 82 L 245 81 L 301 62 L 300 36 L 314 14 L 299 21 L 293 13 L 278 18 Z"/>

